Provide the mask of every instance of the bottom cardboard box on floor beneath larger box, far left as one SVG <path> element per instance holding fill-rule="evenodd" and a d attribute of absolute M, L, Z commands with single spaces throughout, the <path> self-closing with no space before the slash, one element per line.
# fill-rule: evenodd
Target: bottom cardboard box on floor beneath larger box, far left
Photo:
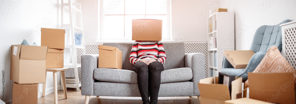
<path fill-rule="evenodd" d="M 38 84 L 12 84 L 12 104 L 37 104 Z"/>

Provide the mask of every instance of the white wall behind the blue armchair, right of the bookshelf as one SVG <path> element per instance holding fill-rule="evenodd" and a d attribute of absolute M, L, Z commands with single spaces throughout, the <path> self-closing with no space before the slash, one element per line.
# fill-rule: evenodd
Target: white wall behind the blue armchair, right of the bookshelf
<path fill-rule="evenodd" d="M 234 12 L 235 49 L 249 50 L 256 29 L 296 20 L 295 0 L 223 0 L 221 8 Z"/>

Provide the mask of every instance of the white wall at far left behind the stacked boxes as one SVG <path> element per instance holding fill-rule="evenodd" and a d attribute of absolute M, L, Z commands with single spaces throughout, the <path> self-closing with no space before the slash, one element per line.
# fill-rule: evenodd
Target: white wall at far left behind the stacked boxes
<path fill-rule="evenodd" d="M 7 6 L 11 6 L 7 7 Z M 23 39 L 40 45 L 40 28 L 58 28 L 58 0 L 1 0 L 0 1 L 0 70 L 5 71 L 5 101 L 12 100 L 10 80 L 10 52 L 12 44 L 21 44 Z M 7 11 L 8 13 L 3 13 Z M 59 81 L 58 81 L 59 82 Z M 51 84 L 50 84 L 51 83 Z M 47 74 L 46 88 L 53 87 L 52 73 Z M 39 84 L 39 91 L 42 85 Z M 1 90 L 2 92 L 2 90 Z M 49 92 L 48 92 L 49 93 Z M 41 92 L 39 92 L 39 96 Z M 1 93 L 2 96 L 2 93 Z"/>

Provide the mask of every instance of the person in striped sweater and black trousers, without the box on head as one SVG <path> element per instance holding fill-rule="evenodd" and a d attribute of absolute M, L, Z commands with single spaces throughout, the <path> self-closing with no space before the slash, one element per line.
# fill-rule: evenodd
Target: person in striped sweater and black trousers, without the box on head
<path fill-rule="evenodd" d="M 137 73 L 138 88 L 143 104 L 157 104 L 160 75 L 166 55 L 161 41 L 135 41 L 130 62 Z M 148 89 L 150 90 L 150 103 Z"/>

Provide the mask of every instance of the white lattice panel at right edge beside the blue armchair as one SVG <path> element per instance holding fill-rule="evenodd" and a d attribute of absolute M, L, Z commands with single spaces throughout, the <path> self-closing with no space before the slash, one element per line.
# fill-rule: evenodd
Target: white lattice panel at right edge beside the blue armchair
<path fill-rule="evenodd" d="M 285 57 L 290 65 L 296 68 L 296 27 L 285 29 Z"/>

